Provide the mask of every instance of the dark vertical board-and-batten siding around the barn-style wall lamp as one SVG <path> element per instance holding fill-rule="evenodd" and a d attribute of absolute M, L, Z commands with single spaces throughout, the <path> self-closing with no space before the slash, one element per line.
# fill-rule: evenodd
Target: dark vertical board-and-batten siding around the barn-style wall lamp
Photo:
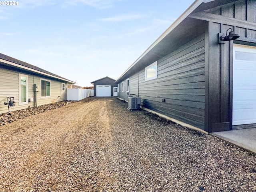
<path fill-rule="evenodd" d="M 210 21 L 206 32 L 206 76 L 209 80 L 209 87 L 206 89 L 206 116 L 209 117 L 206 120 L 206 131 L 217 132 L 232 129 L 233 41 L 218 44 L 216 34 L 226 35 L 228 28 L 232 28 L 240 36 L 234 43 L 254 43 L 255 46 L 255 24 L 252 27 L 248 22 L 256 23 L 256 1 L 242 0 L 209 13 L 216 14 L 215 20 L 218 22 Z M 223 17 L 232 19 L 228 20 L 227 24 Z"/>

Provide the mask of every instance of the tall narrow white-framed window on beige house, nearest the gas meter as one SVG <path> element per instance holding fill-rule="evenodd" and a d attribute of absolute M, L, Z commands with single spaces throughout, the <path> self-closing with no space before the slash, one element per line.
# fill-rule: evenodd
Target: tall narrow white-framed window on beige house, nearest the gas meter
<path fill-rule="evenodd" d="M 20 105 L 28 104 L 28 76 L 20 74 Z"/>

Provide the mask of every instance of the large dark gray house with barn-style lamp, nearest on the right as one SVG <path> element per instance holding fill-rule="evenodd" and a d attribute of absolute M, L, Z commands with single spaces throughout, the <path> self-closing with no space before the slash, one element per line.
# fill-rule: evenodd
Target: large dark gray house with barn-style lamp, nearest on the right
<path fill-rule="evenodd" d="M 256 0 L 196 0 L 116 83 L 194 129 L 256 125 Z"/>

